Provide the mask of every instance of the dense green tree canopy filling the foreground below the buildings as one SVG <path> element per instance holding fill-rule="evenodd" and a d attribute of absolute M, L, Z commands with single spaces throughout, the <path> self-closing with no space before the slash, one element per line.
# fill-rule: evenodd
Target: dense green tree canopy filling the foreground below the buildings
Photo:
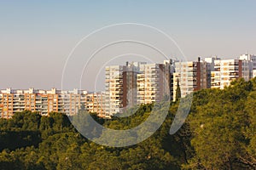
<path fill-rule="evenodd" d="M 170 105 L 153 136 L 123 148 L 90 142 L 61 113 L 24 111 L 0 119 L 0 169 L 255 169 L 255 101 L 255 78 L 224 90 L 195 92 L 189 117 L 177 133 L 170 135 L 169 129 L 179 101 Z M 143 122 L 152 106 L 141 105 L 125 118 L 92 116 L 105 127 L 128 129 Z"/>

